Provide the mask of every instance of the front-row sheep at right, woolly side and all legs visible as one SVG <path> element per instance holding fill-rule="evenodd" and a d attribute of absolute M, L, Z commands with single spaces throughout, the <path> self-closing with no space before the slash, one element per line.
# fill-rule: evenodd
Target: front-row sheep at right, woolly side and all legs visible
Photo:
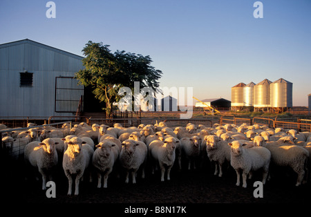
<path fill-rule="evenodd" d="M 233 141 L 228 143 L 231 147 L 230 164 L 236 171 L 236 186 L 240 185 L 240 176 L 242 172 L 243 187 L 247 187 L 247 175 L 251 175 L 252 171 L 263 169 L 263 185 L 267 180 L 269 171 L 271 153 L 265 147 L 254 147 L 252 149 L 244 149 L 243 143 Z"/>

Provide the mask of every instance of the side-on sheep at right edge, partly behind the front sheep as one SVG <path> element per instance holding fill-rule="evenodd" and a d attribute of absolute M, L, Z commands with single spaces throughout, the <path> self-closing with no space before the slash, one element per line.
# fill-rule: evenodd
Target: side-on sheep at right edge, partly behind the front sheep
<path fill-rule="evenodd" d="M 261 140 L 258 142 L 257 140 Z M 297 173 L 296 186 L 301 185 L 305 171 L 307 171 L 307 162 L 309 152 L 303 147 L 296 146 L 295 144 L 284 144 L 285 138 L 277 142 L 265 142 L 262 138 L 256 137 L 254 142 L 260 143 L 263 147 L 269 149 L 271 152 L 271 161 L 276 166 L 288 166 Z"/>

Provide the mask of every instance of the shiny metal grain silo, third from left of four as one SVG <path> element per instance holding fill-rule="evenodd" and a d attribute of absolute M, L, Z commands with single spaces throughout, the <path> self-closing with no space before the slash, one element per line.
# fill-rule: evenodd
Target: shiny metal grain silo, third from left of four
<path fill-rule="evenodd" d="M 254 86 L 254 110 L 261 111 L 270 107 L 270 84 L 272 82 L 264 79 Z"/>

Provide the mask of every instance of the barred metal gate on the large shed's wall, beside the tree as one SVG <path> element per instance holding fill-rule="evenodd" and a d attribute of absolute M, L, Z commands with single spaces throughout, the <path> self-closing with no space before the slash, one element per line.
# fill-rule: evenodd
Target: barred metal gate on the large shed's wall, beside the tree
<path fill-rule="evenodd" d="M 83 93 L 84 86 L 74 77 L 55 77 L 55 112 L 77 112 L 83 106 Z"/>

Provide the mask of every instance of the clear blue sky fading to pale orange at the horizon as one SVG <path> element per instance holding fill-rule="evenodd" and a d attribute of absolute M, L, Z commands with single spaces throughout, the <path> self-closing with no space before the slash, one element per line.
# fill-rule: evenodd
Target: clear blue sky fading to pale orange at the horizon
<path fill-rule="evenodd" d="M 161 87 L 193 88 L 203 100 L 231 100 L 243 82 L 283 78 L 293 83 L 293 106 L 311 93 L 311 1 L 55 0 L 0 1 L 0 44 L 31 39 L 83 56 L 88 41 L 149 55 L 162 70 Z M 187 92 L 185 92 L 187 95 Z"/>

